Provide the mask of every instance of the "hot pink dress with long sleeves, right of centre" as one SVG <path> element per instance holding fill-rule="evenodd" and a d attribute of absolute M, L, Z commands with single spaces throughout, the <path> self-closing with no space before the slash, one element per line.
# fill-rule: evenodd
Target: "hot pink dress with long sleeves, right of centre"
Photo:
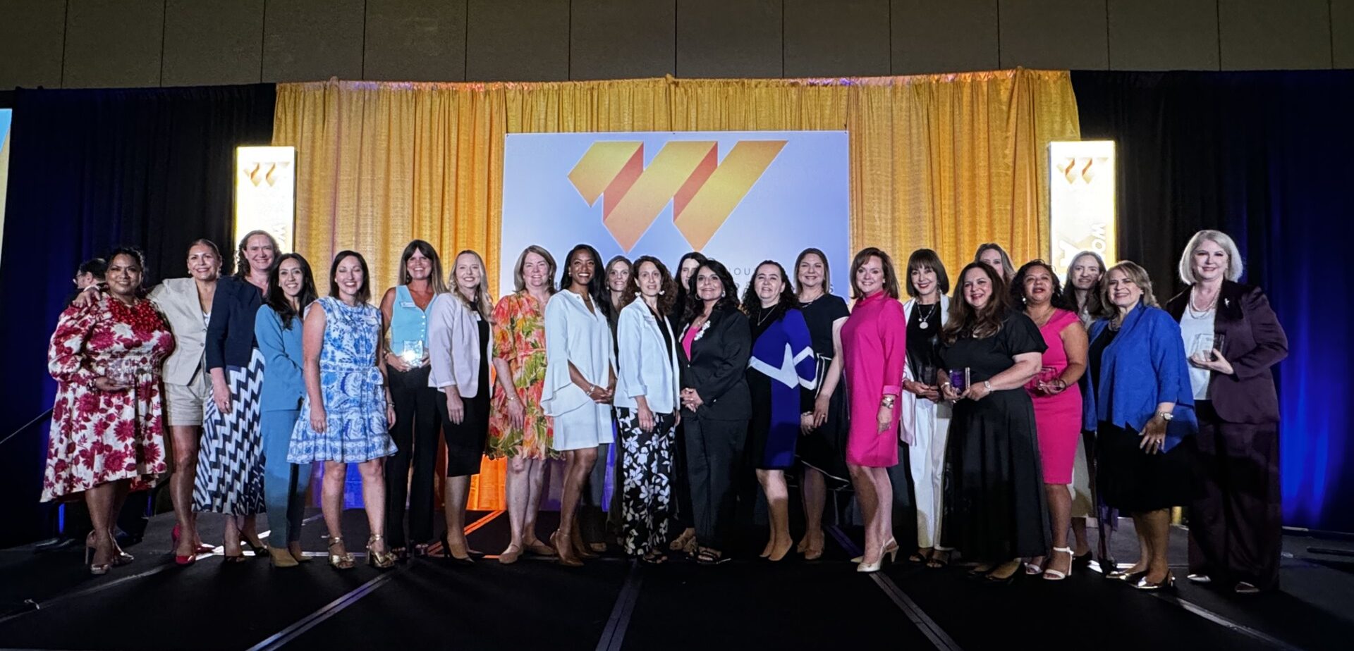
<path fill-rule="evenodd" d="M 884 292 L 856 302 L 842 323 L 842 372 L 850 401 L 846 463 L 873 468 L 898 466 L 898 413 L 879 430 L 879 403 L 899 395 L 907 360 L 907 317 L 903 305 Z"/>

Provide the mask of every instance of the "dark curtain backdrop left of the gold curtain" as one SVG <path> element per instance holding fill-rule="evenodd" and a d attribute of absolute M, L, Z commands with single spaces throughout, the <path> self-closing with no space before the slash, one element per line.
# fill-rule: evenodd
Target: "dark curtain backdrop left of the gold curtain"
<path fill-rule="evenodd" d="M 199 237 L 233 257 L 234 148 L 271 142 L 275 97 L 268 84 L 15 92 L 0 439 L 51 407 L 47 341 L 83 260 L 139 246 L 149 288 L 187 273 Z M 38 503 L 46 434 L 42 424 L 0 444 L 0 547 L 53 529 L 53 509 Z"/>

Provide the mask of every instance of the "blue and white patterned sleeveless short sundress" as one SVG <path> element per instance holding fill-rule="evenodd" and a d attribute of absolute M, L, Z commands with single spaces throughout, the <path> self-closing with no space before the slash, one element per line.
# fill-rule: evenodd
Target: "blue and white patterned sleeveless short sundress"
<path fill-rule="evenodd" d="M 291 430 L 290 463 L 357 463 L 395 453 L 386 422 L 386 392 L 376 368 L 380 311 L 363 303 L 348 306 L 325 296 L 306 307 L 325 311 L 320 351 L 320 395 L 325 401 L 325 432 L 310 426 L 310 395 Z"/>

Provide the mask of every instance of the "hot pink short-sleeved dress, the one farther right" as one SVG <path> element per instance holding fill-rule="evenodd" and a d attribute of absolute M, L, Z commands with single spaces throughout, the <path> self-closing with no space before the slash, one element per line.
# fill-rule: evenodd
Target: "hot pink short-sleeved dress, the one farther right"
<path fill-rule="evenodd" d="M 1082 436 L 1082 390 L 1075 383 L 1057 395 L 1036 390 L 1040 378 L 1056 378 L 1067 368 L 1067 351 L 1060 333 L 1080 319 L 1075 313 L 1055 310 L 1039 333 L 1044 336 L 1044 368 L 1026 384 L 1034 402 L 1034 426 L 1039 429 L 1039 456 L 1044 464 L 1044 483 L 1072 483 L 1072 462 L 1076 459 L 1076 440 Z"/>

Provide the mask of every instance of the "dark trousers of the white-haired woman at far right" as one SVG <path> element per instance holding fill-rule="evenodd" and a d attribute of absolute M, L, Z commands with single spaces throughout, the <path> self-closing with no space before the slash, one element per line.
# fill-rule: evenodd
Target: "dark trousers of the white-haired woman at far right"
<path fill-rule="evenodd" d="M 1225 422 L 1208 401 L 1194 409 L 1198 436 L 1189 570 L 1273 590 L 1284 551 L 1278 424 Z"/>

